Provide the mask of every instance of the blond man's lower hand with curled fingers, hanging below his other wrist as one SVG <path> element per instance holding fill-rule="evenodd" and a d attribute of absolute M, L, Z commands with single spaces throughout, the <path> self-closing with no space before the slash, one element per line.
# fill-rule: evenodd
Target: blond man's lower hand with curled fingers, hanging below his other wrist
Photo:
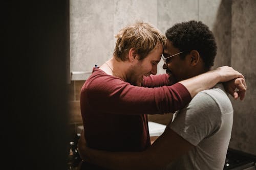
<path fill-rule="evenodd" d="M 232 95 L 235 100 L 238 98 L 240 98 L 240 100 L 244 99 L 245 92 L 247 90 L 244 78 L 233 79 L 228 82 L 224 82 L 223 85 L 225 90 Z"/>

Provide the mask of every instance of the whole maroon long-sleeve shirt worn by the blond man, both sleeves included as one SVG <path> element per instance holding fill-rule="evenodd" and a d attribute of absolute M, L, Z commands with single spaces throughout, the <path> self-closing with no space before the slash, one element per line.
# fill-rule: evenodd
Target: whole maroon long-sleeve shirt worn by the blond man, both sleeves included
<path fill-rule="evenodd" d="M 107 151 L 143 151 L 150 146 L 147 114 L 183 108 L 191 100 L 180 83 L 168 75 L 150 76 L 133 86 L 94 68 L 81 89 L 81 114 L 89 147 Z"/>

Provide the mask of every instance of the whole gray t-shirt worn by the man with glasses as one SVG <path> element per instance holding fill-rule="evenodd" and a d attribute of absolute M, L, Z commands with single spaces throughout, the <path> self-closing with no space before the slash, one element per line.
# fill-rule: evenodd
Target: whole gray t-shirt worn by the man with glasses
<path fill-rule="evenodd" d="M 167 128 L 195 145 L 166 169 L 223 169 L 233 108 L 222 84 L 198 93 Z"/>

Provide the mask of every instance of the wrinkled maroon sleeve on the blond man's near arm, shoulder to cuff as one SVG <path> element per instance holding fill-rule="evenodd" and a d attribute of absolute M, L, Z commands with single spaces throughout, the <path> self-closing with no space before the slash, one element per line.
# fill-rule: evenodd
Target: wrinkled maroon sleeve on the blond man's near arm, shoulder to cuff
<path fill-rule="evenodd" d="M 85 87 L 81 95 L 87 99 L 95 111 L 103 107 L 110 114 L 169 113 L 180 110 L 191 100 L 188 90 L 180 83 L 147 88 L 133 86 L 112 77 L 103 80 L 97 78 L 89 84 L 91 84 L 90 87 Z"/>

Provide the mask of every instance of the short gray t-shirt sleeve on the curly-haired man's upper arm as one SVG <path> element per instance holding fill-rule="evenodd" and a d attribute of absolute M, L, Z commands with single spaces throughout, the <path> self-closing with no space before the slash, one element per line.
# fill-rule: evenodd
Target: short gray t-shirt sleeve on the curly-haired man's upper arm
<path fill-rule="evenodd" d="M 221 111 L 210 95 L 198 93 L 186 108 L 177 113 L 168 128 L 185 140 L 197 145 L 201 140 L 214 134 L 221 125 Z"/>

